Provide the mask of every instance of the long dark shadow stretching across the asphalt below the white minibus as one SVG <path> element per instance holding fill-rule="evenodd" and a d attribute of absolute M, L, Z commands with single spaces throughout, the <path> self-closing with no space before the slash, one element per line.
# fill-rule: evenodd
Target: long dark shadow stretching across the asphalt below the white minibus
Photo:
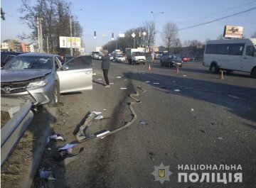
<path fill-rule="evenodd" d="M 141 74 L 140 77 L 137 77 L 136 74 L 131 74 L 134 73 L 124 72 L 125 77 L 129 77 L 130 79 L 144 83 L 151 80 L 151 82 L 145 84 L 154 87 L 154 89 L 159 88 L 158 91 L 217 104 L 228 108 L 228 111 L 236 116 L 256 122 L 256 88 L 254 87 L 240 87 L 218 82 L 191 79 L 188 77 L 166 76 L 164 74 L 155 73 Z M 159 82 L 159 84 L 153 84 L 154 82 Z M 181 92 L 174 92 L 174 89 L 179 89 Z M 230 97 L 234 95 L 237 97 L 236 99 Z M 249 125 L 248 127 L 254 128 L 254 126 Z"/>

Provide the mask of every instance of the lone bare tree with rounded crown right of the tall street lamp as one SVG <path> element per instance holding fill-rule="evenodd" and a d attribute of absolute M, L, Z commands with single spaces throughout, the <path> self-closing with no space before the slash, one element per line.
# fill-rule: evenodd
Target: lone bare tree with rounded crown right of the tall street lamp
<path fill-rule="evenodd" d="M 174 47 L 175 43 L 177 42 L 176 39 L 178 38 L 178 27 L 176 26 L 176 23 L 167 22 L 161 36 L 167 50 L 169 51 L 170 48 Z"/>

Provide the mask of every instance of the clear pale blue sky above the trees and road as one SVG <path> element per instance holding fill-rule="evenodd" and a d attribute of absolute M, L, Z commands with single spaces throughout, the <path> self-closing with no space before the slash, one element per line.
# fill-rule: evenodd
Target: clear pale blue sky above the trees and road
<path fill-rule="evenodd" d="M 163 14 L 156 16 L 158 31 L 156 46 L 158 46 L 164 45 L 161 31 L 168 21 L 176 23 L 178 28 L 186 28 L 256 6 L 256 1 L 252 0 L 73 0 L 72 2 L 73 15 L 78 17 L 80 25 L 84 28 L 82 39 L 87 52 L 111 40 L 111 33 L 114 33 L 116 38 L 119 33 L 142 26 L 145 21 L 154 21 L 151 11 L 155 14 L 164 11 Z M 20 14 L 17 9 L 20 6 L 21 0 L 1 0 L 1 7 L 6 12 L 6 21 L 1 20 L 1 41 L 9 38 L 17 39 L 18 33 L 31 33 L 26 25 L 18 21 Z M 256 9 L 203 26 L 181 29 L 178 37 L 181 43 L 184 40 L 196 39 L 204 42 L 206 38 L 216 39 L 223 33 L 225 25 L 243 26 L 243 34 L 245 37 L 250 37 L 256 31 L 255 15 Z M 97 32 L 96 39 L 92 37 L 94 31 Z M 102 38 L 102 33 L 106 33 L 107 38 Z"/>

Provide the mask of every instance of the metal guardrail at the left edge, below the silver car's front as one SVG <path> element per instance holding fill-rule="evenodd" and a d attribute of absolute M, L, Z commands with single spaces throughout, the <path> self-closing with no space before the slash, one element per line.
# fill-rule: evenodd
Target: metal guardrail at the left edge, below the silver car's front
<path fill-rule="evenodd" d="M 21 104 L 18 100 L 1 98 L 1 111 L 8 111 L 11 116 L 11 119 L 1 128 L 1 165 L 8 159 L 23 132 L 33 120 L 31 106 L 30 101 Z"/>

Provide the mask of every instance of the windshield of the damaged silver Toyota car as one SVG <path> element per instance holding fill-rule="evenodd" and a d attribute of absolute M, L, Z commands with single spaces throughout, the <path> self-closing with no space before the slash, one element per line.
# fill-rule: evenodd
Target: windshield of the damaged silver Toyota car
<path fill-rule="evenodd" d="M 4 66 L 4 70 L 50 69 L 51 67 L 51 57 L 16 56 Z"/>

